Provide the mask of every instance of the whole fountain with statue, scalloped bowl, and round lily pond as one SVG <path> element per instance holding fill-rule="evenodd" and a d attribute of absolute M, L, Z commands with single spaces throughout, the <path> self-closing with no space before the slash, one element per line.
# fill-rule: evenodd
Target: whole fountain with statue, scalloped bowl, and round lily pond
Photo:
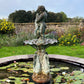
<path fill-rule="evenodd" d="M 40 6 L 37 11 L 34 32 L 37 38 L 24 41 L 37 51 L 34 55 L 0 58 L 0 84 L 84 84 L 84 59 L 48 55 L 45 51 L 56 45 L 57 40 L 46 39 L 45 7 Z"/>

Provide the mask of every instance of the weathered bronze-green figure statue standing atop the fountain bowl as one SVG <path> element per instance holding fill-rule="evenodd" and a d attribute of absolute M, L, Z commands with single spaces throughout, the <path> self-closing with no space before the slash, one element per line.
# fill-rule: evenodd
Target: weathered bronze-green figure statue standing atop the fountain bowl
<path fill-rule="evenodd" d="M 44 38 L 47 19 L 47 13 L 44 6 L 39 6 L 37 9 L 36 19 L 35 19 L 35 36 L 39 38 Z"/>

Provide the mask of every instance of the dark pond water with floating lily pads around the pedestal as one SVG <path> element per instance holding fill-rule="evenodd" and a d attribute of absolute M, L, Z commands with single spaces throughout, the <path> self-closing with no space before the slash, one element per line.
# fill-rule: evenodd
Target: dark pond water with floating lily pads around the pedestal
<path fill-rule="evenodd" d="M 0 84 L 36 84 L 32 80 L 33 61 L 16 62 L 0 67 Z M 84 84 L 84 69 L 69 63 L 50 60 L 52 79 L 46 84 Z"/>

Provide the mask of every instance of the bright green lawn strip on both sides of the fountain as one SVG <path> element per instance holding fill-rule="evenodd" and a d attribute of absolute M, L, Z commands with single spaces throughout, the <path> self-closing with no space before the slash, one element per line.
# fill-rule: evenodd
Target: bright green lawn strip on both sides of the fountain
<path fill-rule="evenodd" d="M 0 58 L 14 55 L 34 54 L 35 49 L 31 46 L 2 47 L 0 48 Z M 51 46 L 46 49 L 48 54 L 59 54 L 84 58 L 84 46 Z"/>

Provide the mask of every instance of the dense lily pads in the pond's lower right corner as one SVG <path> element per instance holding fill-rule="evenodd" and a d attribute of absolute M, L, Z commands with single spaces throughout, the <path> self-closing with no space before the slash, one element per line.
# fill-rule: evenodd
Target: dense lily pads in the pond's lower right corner
<path fill-rule="evenodd" d="M 55 83 L 62 84 L 83 84 L 84 73 L 82 71 L 73 71 L 72 73 L 65 73 L 64 76 L 57 75 L 54 79 Z"/>

